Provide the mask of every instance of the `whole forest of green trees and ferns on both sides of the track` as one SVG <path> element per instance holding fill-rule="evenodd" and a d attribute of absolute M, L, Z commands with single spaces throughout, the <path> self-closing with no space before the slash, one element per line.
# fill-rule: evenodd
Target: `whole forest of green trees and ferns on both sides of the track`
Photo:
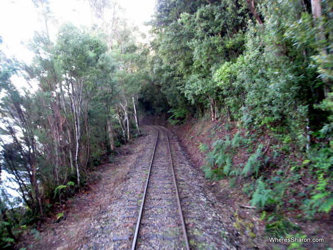
<path fill-rule="evenodd" d="M 302 214 L 331 213 L 332 1 L 157 0 L 152 39 L 118 16 L 116 2 L 88 2 L 95 25 L 61 24 L 53 37 L 49 2 L 33 0 L 45 26 L 30 40 L 32 64 L 0 51 L 1 247 L 140 136 L 139 113 L 167 113 L 174 126 L 235 122 L 233 138 L 198 148 L 207 178 L 248 179 L 261 211 L 279 210 L 290 184 L 309 181 Z M 249 145 L 248 160 L 235 163 Z"/>

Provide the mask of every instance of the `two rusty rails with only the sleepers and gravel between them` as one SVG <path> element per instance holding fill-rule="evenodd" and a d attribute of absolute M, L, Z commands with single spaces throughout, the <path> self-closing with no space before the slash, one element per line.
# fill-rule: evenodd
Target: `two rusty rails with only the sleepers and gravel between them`
<path fill-rule="evenodd" d="M 142 196 L 132 250 L 186 249 L 190 250 L 178 188 L 173 169 L 168 132 L 156 130 L 148 176 Z M 158 232 L 151 228 L 158 227 Z"/>

